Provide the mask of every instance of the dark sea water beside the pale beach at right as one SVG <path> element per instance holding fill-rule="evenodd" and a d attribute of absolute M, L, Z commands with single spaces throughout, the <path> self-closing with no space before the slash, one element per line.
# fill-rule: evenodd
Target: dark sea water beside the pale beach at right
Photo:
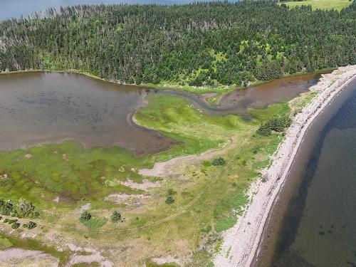
<path fill-rule="evenodd" d="M 347 91 L 313 144 L 273 266 L 356 266 L 356 80 Z"/>

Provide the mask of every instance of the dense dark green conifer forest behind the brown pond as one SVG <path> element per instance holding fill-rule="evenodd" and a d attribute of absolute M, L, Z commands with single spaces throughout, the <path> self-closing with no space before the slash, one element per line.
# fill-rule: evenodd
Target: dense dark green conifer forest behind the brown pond
<path fill-rule="evenodd" d="M 80 70 L 120 83 L 246 85 L 356 64 L 356 3 L 273 1 L 48 9 L 0 22 L 0 70 Z"/>

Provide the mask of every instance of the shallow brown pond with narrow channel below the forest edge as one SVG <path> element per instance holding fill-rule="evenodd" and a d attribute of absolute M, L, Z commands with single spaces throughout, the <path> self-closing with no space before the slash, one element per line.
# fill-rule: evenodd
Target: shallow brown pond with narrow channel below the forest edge
<path fill-rule="evenodd" d="M 117 145 L 133 150 L 136 156 L 152 154 L 177 142 L 130 120 L 147 102 L 147 94 L 187 98 L 210 114 L 244 114 L 248 107 L 264 108 L 293 98 L 319 77 L 300 75 L 237 90 L 211 107 L 192 93 L 116 85 L 72 73 L 4 74 L 0 75 L 0 150 L 77 140 L 85 147 Z M 232 98 L 236 101 L 231 102 Z"/>

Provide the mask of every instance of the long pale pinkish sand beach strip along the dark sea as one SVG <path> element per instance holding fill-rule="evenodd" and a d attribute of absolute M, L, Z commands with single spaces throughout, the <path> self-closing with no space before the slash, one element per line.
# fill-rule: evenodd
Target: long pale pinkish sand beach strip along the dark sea
<path fill-rule="evenodd" d="M 266 169 L 266 182 L 253 184 L 249 190 L 251 202 L 246 213 L 236 225 L 223 234 L 224 243 L 214 259 L 214 266 L 251 266 L 261 242 L 263 228 L 274 201 L 293 163 L 303 136 L 315 117 L 330 104 L 335 95 L 356 77 L 356 66 L 341 67 L 333 73 L 324 74 L 320 82 L 310 90 L 320 90 L 313 101 L 302 112 L 295 115 L 286 139 L 279 145 L 273 164 Z M 226 257 L 226 255 L 228 255 Z"/>

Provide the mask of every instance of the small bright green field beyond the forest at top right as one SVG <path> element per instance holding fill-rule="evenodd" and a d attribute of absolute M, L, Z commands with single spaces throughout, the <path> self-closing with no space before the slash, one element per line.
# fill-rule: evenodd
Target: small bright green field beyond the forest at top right
<path fill-rule="evenodd" d="M 305 0 L 305 1 L 286 1 L 283 4 L 286 4 L 290 7 L 295 6 L 312 6 L 312 9 L 335 9 L 340 11 L 341 9 L 350 6 L 352 1 L 349 0 Z"/>

